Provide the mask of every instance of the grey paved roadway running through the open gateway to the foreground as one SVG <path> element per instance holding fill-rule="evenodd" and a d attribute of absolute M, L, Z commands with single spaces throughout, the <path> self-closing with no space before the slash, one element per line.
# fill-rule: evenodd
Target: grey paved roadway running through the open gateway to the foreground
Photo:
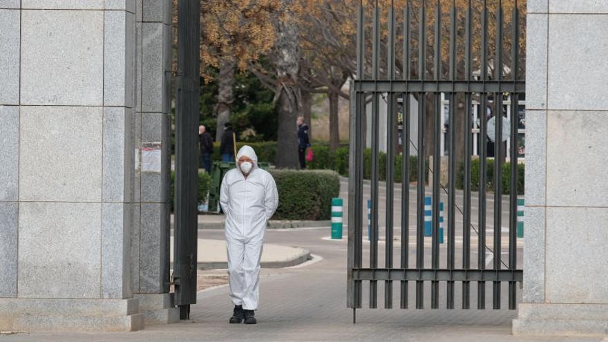
<path fill-rule="evenodd" d="M 220 240 L 223 231 L 199 231 L 199 237 Z M 141 332 L 120 333 L 21 333 L 0 336 L 13 341 L 585 341 L 608 342 L 599 336 L 513 336 L 511 310 L 446 310 L 444 290 L 439 310 L 399 310 L 346 307 L 346 245 L 325 240 L 328 228 L 274 229 L 267 231 L 270 245 L 296 245 L 310 250 L 313 260 L 296 267 L 263 269 L 260 279 L 258 325 L 231 325 L 232 305 L 227 287 L 198 293 L 191 320 L 172 325 L 147 326 Z M 369 249 L 365 247 L 365 253 Z M 490 284 L 491 285 L 491 284 Z M 383 307 L 383 283 L 379 283 L 379 307 Z M 396 289 L 399 286 L 395 286 Z M 411 291 L 410 294 L 413 294 Z M 426 291 L 426 303 L 430 291 Z M 488 294 L 491 294 L 488 291 Z M 368 289 L 364 287 L 364 307 Z M 476 298 L 476 296 L 472 296 Z M 410 305 L 415 303 L 410 297 Z M 491 303 L 488 301 L 488 303 Z M 506 301 L 505 301 L 506 303 Z M 457 307 L 459 303 L 457 303 Z M 475 307 L 475 303 L 471 303 Z"/>

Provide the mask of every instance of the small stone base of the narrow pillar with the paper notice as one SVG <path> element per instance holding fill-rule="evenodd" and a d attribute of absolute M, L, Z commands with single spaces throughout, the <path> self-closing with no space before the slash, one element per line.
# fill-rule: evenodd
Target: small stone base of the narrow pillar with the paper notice
<path fill-rule="evenodd" d="M 171 324 L 180 321 L 180 310 L 173 304 L 173 294 L 133 294 L 140 301 L 146 324 Z"/>

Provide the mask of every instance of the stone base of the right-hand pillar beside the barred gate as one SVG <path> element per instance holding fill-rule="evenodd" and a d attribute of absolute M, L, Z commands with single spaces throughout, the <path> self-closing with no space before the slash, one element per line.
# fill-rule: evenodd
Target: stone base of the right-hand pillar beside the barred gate
<path fill-rule="evenodd" d="M 608 304 L 522 303 L 513 334 L 608 334 Z"/>

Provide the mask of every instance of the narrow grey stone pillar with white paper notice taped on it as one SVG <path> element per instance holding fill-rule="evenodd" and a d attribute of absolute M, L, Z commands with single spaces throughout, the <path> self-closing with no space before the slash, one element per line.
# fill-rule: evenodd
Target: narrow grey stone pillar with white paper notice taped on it
<path fill-rule="evenodd" d="M 169 294 L 171 0 L 137 0 L 133 292 L 146 323 L 179 321 Z"/>

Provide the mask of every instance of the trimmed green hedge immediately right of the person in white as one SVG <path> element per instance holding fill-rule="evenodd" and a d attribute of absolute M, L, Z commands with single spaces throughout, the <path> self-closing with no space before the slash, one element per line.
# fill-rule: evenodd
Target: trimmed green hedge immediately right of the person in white
<path fill-rule="evenodd" d="M 334 171 L 274 170 L 279 205 L 273 220 L 329 220 L 332 198 L 340 194 Z"/>

